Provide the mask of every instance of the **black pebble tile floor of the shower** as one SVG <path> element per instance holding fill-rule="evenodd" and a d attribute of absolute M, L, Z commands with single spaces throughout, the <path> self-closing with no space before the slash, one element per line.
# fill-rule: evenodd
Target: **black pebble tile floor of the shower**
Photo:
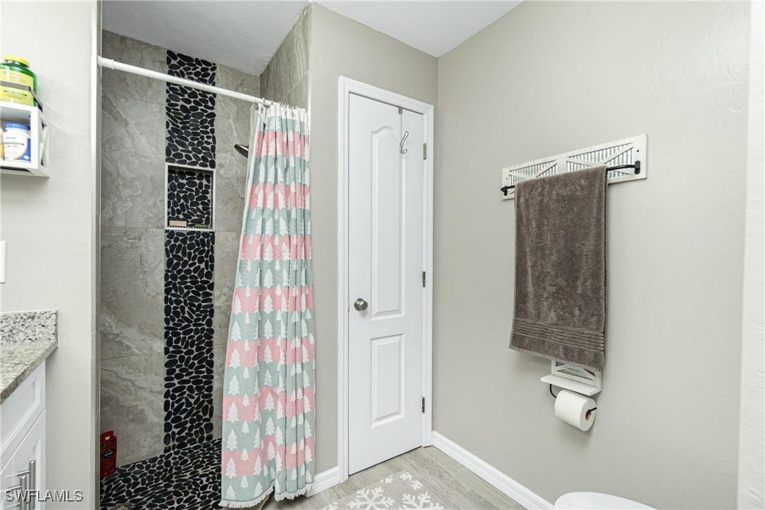
<path fill-rule="evenodd" d="M 101 510 L 220 508 L 220 439 L 119 467 L 101 479 Z"/>

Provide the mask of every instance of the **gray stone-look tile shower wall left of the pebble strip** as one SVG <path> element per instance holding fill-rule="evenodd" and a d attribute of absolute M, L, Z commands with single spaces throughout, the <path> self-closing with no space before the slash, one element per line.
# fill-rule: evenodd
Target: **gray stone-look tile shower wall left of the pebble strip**
<path fill-rule="evenodd" d="M 103 32 L 102 53 L 167 72 L 165 51 Z M 101 427 L 119 464 L 163 450 L 164 83 L 102 73 Z"/>

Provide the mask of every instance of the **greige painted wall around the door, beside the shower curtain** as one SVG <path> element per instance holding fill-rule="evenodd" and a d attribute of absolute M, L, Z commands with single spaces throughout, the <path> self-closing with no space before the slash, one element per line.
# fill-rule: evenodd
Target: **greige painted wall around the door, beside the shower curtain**
<path fill-rule="evenodd" d="M 316 307 L 316 471 L 337 466 L 337 78 L 347 76 L 429 102 L 435 57 L 313 4 L 311 14 L 311 227 Z"/>

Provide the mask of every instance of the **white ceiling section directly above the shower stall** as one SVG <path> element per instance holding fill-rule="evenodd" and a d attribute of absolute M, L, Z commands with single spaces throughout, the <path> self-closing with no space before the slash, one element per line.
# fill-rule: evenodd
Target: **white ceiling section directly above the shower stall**
<path fill-rule="evenodd" d="M 103 29 L 259 75 L 307 3 L 109 0 Z"/>

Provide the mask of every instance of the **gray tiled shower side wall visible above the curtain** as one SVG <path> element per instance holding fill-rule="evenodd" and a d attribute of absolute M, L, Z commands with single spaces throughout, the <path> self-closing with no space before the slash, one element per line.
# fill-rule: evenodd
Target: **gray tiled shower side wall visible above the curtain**
<path fill-rule="evenodd" d="M 292 25 L 282 45 L 260 75 L 263 97 L 308 108 L 308 41 L 311 40 L 311 7 Z"/>

